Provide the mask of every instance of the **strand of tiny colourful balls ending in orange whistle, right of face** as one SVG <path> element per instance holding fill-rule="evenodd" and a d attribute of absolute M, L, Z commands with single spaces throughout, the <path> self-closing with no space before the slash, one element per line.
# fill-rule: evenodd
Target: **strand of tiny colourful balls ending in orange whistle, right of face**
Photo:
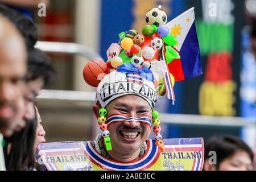
<path fill-rule="evenodd" d="M 160 119 L 159 119 L 159 113 L 158 111 L 154 110 L 152 111 L 152 124 L 154 125 L 153 131 L 154 131 L 154 137 L 156 139 L 156 146 L 158 146 L 159 148 L 162 149 L 162 151 L 164 151 L 164 143 L 162 140 L 162 135 L 160 134 L 161 131 L 161 127 L 160 125 Z"/>

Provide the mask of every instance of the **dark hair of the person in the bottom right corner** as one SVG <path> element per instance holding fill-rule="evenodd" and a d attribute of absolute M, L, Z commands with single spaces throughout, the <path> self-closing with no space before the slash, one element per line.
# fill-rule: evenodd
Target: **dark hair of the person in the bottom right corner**
<path fill-rule="evenodd" d="M 253 162 L 254 155 L 251 148 L 240 138 L 233 135 L 216 135 L 211 137 L 205 145 L 205 160 L 209 159 L 210 151 L 215 151 L 217 154 L 217 169 L 223 160 L 234 155 L 237 151 L 245 151 L 250 156 L 251 162 Z"/>

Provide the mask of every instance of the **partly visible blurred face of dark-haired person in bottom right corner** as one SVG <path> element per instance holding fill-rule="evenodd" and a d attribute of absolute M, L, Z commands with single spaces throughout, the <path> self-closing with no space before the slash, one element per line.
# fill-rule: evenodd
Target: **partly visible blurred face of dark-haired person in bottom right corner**
<path fill-rule="evenodd" d="M 223 160 L 218 169 L 220 171 L 250 171 L 253 169 L 253 163 L 245 151 L 237 151 Z"/>

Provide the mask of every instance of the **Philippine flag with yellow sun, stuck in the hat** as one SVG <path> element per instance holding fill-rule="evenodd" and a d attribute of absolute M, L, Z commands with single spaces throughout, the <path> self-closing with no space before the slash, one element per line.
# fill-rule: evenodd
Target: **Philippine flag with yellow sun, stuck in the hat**
<path fill-rule="evenodd" d="M 174 48 L 179 51 L 180 59 L 174 59 L 168 64 L 175 81 L 201 75 L 199 43 L 196 34 L 194 7 L 185 11 L 166 24 L 170 33 L 176 36 Z"/>

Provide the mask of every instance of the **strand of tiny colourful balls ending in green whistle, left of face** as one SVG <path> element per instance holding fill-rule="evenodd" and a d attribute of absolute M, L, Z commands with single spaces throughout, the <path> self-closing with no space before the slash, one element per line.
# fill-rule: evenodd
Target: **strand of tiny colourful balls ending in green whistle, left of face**
<path fill-rule="evenodd" d="M 100 123 L 100 128 L 101 128 L 101 136 L 104 138 L 104 143 L 106 150 L 112 150 L 112 145 L 111 141 L 109 138 L 109 130 L 108 130 L 108 124 L 106 122 L 106 115 L 108 114 L 108 111 L 105 108 L 101 108 L 98 111 L 98 114 L 100 114 L 100 117 L 98 117 L 98 123 Z"/>

